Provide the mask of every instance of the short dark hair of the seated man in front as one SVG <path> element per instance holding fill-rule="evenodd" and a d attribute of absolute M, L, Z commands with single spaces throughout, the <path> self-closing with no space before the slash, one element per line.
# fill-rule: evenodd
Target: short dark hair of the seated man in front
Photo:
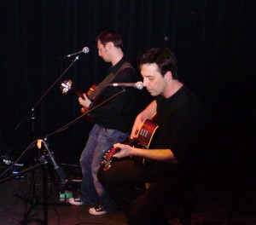
<path fill-rule="evenodd" d="M 143 64 L 155 63 L 159 69 L 160 74 L 165 75 L 167 71 L 172 72 L 172 78 L 177 79 L 177 59 L 174 53 L 167 48 L 152 48 L 137 59 L 139 68 Z"/>

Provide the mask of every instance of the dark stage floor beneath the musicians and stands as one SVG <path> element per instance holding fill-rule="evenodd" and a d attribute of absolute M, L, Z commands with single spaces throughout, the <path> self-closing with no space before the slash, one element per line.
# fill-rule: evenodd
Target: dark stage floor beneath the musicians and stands
<path fill-rule="evenodd" d="M 0 202 L 0 224 L 20 224 L 25 213 L 29 210 L 27 218 L 32 221 L 45 221 L 45 213 L 49 225 L 125 225 L 123 211 L 116 211 L 102 216 L 92 216 L 88 213 L 89 206 L 60 204 L 59 193 L 51 176 L 47 176 L 47 211 L 44 211 L 42 170 L 35 172 L 35 191 L 32 195 L 36 200 L 27 201 L 31 187 L 32 172 L 24 174 L 21 178 L 12 178 L 0 183 L 2 200 Z M 201 182 L 201 193 L 195 202 L 192 214 L 192 224 L 212 225 L 254 225 L 256 224 L 256 185 L 249 179 L 229 179 L 212 176 Z M 76 185 L 73 185 L 74 194 Z M 70 189 L 70 187 L 69 187 Z M 38 201 L 38 202 L 37 202 Z M 62 205 L 63 204 L 63 205 Z M 29 224 L 40 224 L 30 222 Z M 180 222 L 176 214 L 170 212 L 170 224 L 178 225 Z"/>

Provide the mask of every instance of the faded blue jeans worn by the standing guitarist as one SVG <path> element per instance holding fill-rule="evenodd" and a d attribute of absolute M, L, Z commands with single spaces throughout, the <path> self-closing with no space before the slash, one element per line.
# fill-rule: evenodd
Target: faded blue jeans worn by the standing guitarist
<path fill-rule="evenodd" d="M 105 129 L 95 124 L 90 130 L 86 146 L 80 156 L 83 179 L 80 187 L 80 199 L 85 205 L 101 205 L 104 211 L 116 211 L 117 205 L 98 181 L 103 156 L 117 142 L 123 142 L 128 133 Z"/>

